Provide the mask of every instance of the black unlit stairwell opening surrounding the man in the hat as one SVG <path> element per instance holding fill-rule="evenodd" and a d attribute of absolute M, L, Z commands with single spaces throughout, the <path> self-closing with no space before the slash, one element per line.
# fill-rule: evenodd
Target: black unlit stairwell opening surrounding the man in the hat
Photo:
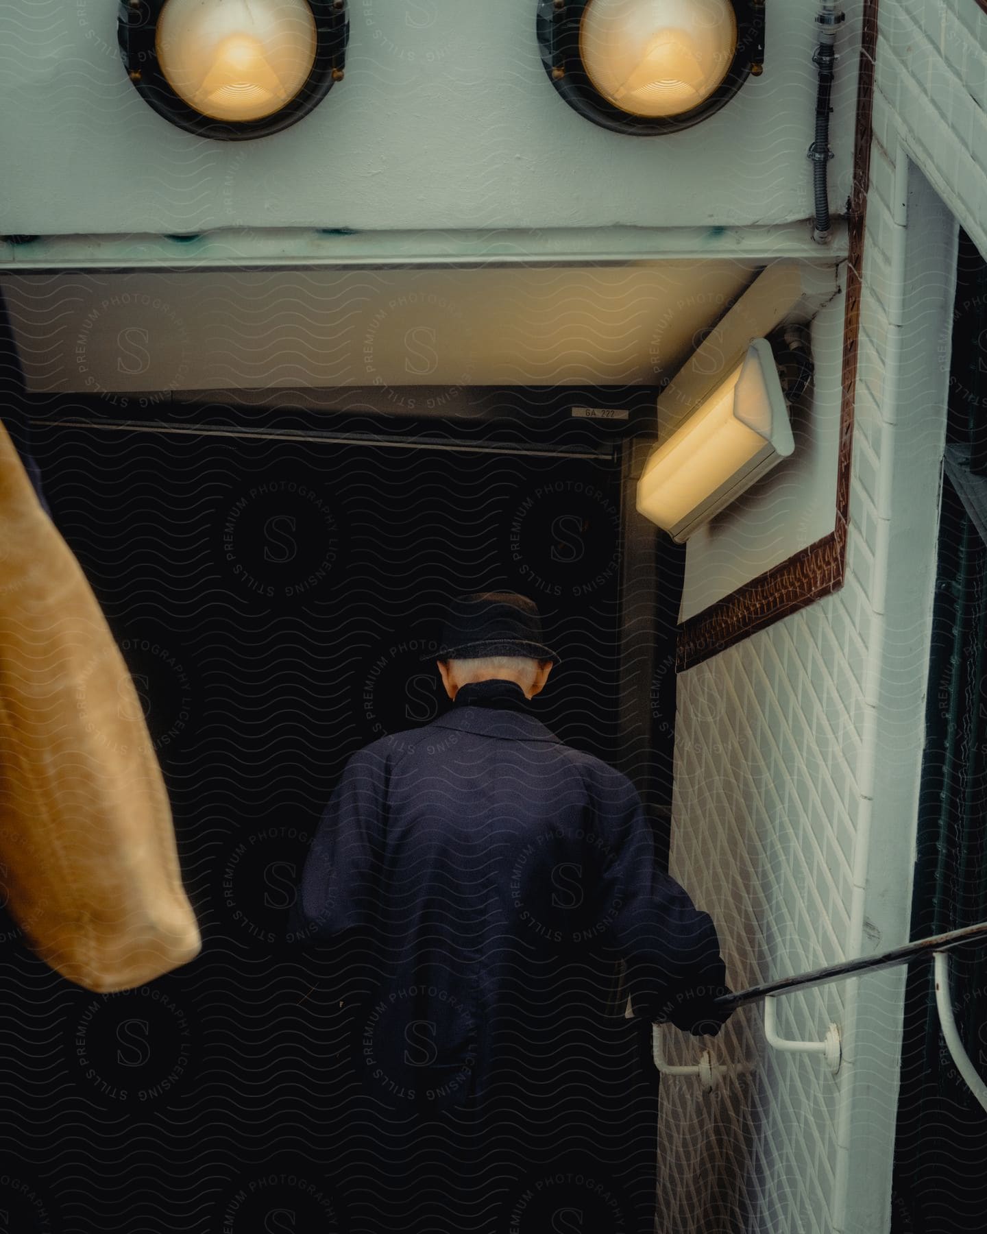
<path fill-rule="evenodd" d="M 527 427 L 470 432 L 179 404 L 127 421 L 107 400 L 20 411 L 137 682 L 204 949 L 93 995 L 2 909 L 2 1159 L 23 1186 L 0 1207 L 19 1234 L 344 1230 L 353 1076 L 332 958 L 283 946 L 301 863 L 347 758 L 448 705 L 421 656 L 456 591 L 539 603 L 563 658 L 539 718 L 621 765 L 627 429 L 544 399 Z M 654 1213 L 643 1041 L 614 1037 L 601 1106 L 627 1229 Z"/>

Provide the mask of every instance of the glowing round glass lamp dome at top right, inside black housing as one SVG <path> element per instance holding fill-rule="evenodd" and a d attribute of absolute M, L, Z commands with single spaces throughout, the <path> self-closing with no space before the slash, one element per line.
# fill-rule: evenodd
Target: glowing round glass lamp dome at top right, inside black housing
<path fill-rule="evenodd" d="M 635 116 L 698 107 L 735 53 L 729 0 L 590 0 L 580 23 L 580 58 L 591 83 Z"/>

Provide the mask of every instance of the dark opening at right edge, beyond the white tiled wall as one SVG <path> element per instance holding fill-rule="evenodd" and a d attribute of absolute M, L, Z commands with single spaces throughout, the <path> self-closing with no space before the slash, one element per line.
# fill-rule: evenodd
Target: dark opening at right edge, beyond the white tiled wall
<path fill-rule="evenodd" d="M 911 938 L 987 919 L 987 262 L 960 231 L 946 457 Z M 952 1006 L 987 1077 L 987 950 L 950 953 Z M 930 964 L 909 967 L 893 1234 L 961 1234 L 987 1212 L 987 1113 L 950 1056 Z"/>

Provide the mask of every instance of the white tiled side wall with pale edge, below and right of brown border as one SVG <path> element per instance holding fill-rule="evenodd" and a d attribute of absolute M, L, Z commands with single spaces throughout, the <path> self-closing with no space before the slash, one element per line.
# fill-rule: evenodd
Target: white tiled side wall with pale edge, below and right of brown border
<path fill-rule="evenodd" d="M 956 220 L 987 254 L 986 107 L 973 0 L 880 0 L 846 581 L 679 677 L 671 868 L 734 988 L 908 937 Z M 771 1050 L 755 1004 L 713 1043 L 721 1088 L 663 1081 L 663 1234 L 888 1229 L 902 993 L 896 969 L 778 1000 L 782 1037 L 840 1025 L 835 1077 Z"/>

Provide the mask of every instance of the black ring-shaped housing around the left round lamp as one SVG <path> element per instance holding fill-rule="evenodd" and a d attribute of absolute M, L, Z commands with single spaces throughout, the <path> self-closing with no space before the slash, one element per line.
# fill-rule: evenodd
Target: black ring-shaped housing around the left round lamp
<path fill-rule="evenodd" d="M 143 100 L 165 120 L 217 141 L 249 141 L 290 128 L 313 111 L 343 78 L 349 17 L 345 0 L 306 0 L 316 27 L 316 56 L 301 89 L 278 111 L 258 120 L 217 120 L 179 97 L 158 63 L 158 20 L 168 0 L 120 0 L 117 42 L 127 75 Z"/>

